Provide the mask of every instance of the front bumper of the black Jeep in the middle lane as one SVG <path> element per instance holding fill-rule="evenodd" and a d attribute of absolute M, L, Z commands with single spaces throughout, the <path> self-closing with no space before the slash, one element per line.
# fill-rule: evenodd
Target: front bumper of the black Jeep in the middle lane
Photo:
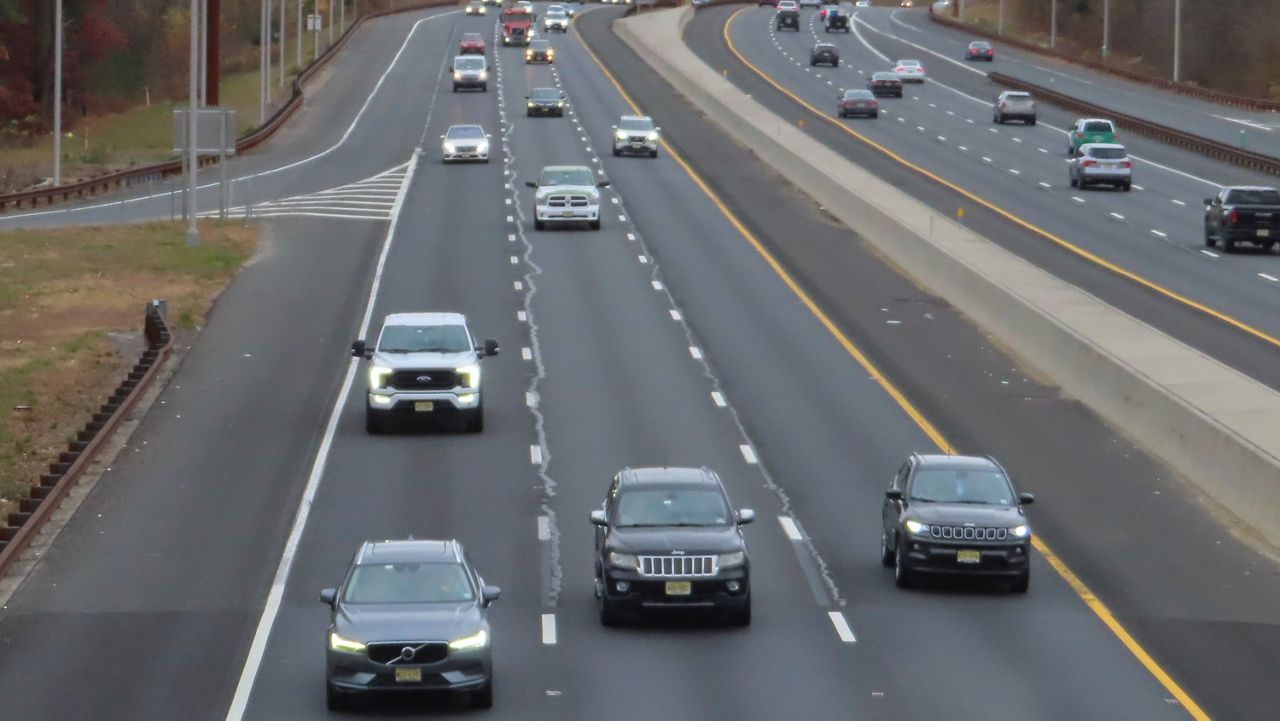
<path fill-rule="evenodd" d="M 721 571 L 713 578 L 660 579 L 641 576 L 635 571 L 608 569 L 602 579 L 600 592 L 616 611 L 636 615 L 645 611 L 663 610 L 717 610 L 736 611 L 751 602 L 750 574 L 745 567 Z M 618 583 L 627 584 L 627 590 L 618 590 Z M 691 593 L 672 595 L 667 593 L 668 581 L 687 581 Z M 735 581 L 737 590 L 728 590 L 728 583 Z"/>

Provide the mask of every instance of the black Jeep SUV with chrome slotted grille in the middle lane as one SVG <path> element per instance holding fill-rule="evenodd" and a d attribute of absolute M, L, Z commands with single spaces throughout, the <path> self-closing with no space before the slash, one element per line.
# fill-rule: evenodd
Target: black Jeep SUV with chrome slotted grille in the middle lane
<path fill-rule="evenodd" d="M 595 597 L 600 622 L 646 610 L 719 611 L 751 622 L 751 561 L 719 476 L 707 469 L 626 469 L 613 476 L 595 525 Z"/>

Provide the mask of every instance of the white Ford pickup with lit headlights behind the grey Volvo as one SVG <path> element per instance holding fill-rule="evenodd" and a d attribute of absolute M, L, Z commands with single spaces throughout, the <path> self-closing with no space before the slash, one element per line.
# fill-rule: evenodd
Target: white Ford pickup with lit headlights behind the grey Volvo
<path fill-rule="evenodd" d="M 392 417 L 458 415 L 468 433 L 484 430 L 480 359 L 498 355 L 498 342 L 479 346 L 460 312 L 393 312 L 378 342 L 351 344 L 369 360 L 365 430 L 381 433 Z"/>

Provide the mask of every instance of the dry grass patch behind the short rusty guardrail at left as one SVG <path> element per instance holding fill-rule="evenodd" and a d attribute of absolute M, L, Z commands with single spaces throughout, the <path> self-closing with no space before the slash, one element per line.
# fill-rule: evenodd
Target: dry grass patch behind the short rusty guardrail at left
<path fill-rule="evenodd" d="M 0 525 L 145 347 L 147 301 L 193 329 L 253 252 L 257 227 L 151 223 L 0 233 Z"/>

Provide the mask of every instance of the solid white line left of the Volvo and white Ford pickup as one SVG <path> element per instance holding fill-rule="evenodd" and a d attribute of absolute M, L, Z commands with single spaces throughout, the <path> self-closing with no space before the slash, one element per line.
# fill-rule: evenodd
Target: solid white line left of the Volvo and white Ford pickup
<path fill-rule="evenodd" d="M 396 198 L 396 206 L 392 209 L 392 222 L 387 227 L 383 252 L 378 257 L 378 269 L 374 271 L 374 282 L 369 288 L 365 316 L 360 321 L 360 338 L 364 338 L 369 333 L 369 324 L 374 316 L 374 305 L 378 302 L 378 291 L 383 283 L 383 270 L 387 268 L 387 257 L 390 255 L 396 228 L 399 225 L 399 214 L 404 207 L 404 196 L 408 195 L 407 191 L 413 179 L 413 169 L 417 168 L 417 152 L 415 151 L 408 161 L 404 184 Z M 316 490 L 320 488 L 320 479 L 324 478 L 324 469 L 329 462 L 329 450 L 333 447 L 333 438 L 338 432 L 338 419 L 342 415 L 342 409 L 347 405 L 347 398 L 351 396 L 358 364 L 360 359 L 351 359 L 351 362 L 347 365 L 347 377 L 342 383 L 342 391 L 338 392 L 338 398 L 329 411 L 329 423 L 325 424 L 320 448 L 316 450 L 315 460 L 311 464 L 311 473 L 307 475 L 307 484 L 302 489 L 302 499 L 298 502 L 289 538 L 284 543 L 280 563 L 276 566 L 275 578 L 271 580 L 271 590 L 266 595 L 262 615 L 259 617 L 257 629 L 253 631 L 253 642 L 250 644 L 248 654 L 244 657 L 244 667 L 241 670 L 241 677 L 236 683 L 236 693 L 232 695 L 232 703 L 227 709 L 227 721 L 241 721 L 244 717 L 244 711 L 248 708 L 250 694 L 253 693 L 253 683 L 257 680 L 257 671 L 262 666 L 266 643 L 270 640 L 271 628 L 275 625 L 275 617 L 280 612 L 280 603 L 284 601 L 284 588 L 289 583 L 289 571 L 293 569 L 293 560 L 297 557 L 298 543 L 302 540 L 302 531 L 306 529 L 307 517 L 311 515 L 311 503 L 315 501 Z"/>

